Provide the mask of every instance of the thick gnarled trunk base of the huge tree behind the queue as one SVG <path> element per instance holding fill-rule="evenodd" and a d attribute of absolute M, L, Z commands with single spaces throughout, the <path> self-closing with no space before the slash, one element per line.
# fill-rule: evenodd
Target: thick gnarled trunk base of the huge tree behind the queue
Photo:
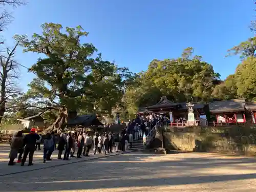
<path fill-rule="evenodd" d="M 47 133 L 51 133 L 51 132 L 60 132 L 64 129 L 63 125 L 64 123 L 67 122 L 67 118 L 68 118 L 68 111 L 66 106 L 62 106 L 59 109 L 59 114 L 57 119 L 55 120 L 55 122 L 50 125 L 46 130 L 44 130 L 42 133 L 47 134 Z"/>

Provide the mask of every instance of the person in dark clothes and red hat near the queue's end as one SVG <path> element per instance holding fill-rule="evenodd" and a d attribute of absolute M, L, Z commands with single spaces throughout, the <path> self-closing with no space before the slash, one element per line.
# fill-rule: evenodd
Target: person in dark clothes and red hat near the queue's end
<path fill-rule="evenodd" d="M 24 163 L 26 162 L 27 156 L 29 155 L 29 166 L 33 165 L 32 161 L 33 161 L 33 155 L 34 155 L 34 151 L 35 151 L 35 144 L 36 144 L 36 140 L 39 140 L 40 137 L 39 135 L 37 135 L 35 133 L 35 128 L 32 128 L 30 130 L 30 133 L 28 135 L 25 136 L 24 138 L 24 143 L 23 145 L 24 147 L 24 154 L 23 154 L 23 158 L 22 158 L 22 163 L 20 164 L 21 166 L 24 166 Z"/>

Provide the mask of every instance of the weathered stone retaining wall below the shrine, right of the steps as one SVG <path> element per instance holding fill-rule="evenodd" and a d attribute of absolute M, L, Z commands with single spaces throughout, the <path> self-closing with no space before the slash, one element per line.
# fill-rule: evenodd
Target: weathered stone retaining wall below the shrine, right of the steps
<path fill-rule="evenodd" d="M 215 130 L 215 131 L 212 131 Z M 250 127 L 228 127 L 205 132 L 164 133 L 167 150 L 220 152 L 256 155 L 256 132 Z"/>

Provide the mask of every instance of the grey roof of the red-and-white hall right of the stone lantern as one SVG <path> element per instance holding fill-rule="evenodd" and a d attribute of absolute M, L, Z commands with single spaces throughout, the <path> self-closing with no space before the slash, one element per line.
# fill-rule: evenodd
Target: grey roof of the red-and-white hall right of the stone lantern
<path fill-rule="evenodd" d="M 214 101 L 209 103 L 210 112 L 235 112 L 244 111 L 245 100 L 244 99 L 233 99 L 226 101 Z"/>

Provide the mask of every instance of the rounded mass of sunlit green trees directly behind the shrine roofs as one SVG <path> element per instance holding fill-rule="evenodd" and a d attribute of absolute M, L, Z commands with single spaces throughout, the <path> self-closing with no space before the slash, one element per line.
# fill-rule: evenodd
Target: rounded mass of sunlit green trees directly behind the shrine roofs
<path fill-rule="evenodd" d="M 124 95 L 128 112 L 132 114 L 139 106 L 153 105 L 161 96 L 175 102 L 210 99 L 220 75 L 202 61 L 202 57 L 191 58 L 193 51 L 187 48 L 177 59 L 154 59 L 147 71 L 138 75 L 140 83 L 130 87 Z"/>

